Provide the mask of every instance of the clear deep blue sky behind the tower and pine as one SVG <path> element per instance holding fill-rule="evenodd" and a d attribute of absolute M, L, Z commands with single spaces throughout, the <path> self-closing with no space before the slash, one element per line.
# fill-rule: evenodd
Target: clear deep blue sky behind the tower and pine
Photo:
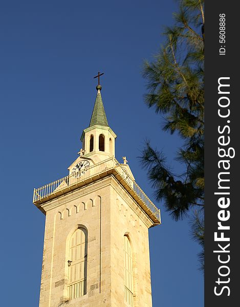
<path fill-rule="evenodd" d="M 162 209 L 162 225 L 149 230 L 153 306 L 203 306 L 199 247 L 187 221 L 173 222 L 155 201 L 137 159 L 149 138 L 178 167 L 178 137 L 163 133 L 161 117 L 144 104 L 141 76 L 173 11 L 176 2 L 168 0 L 0 3 L 1 306 L 38 306 L 45 215 L 32 204 L 33 188 L 68 174 L 89 125 L 98 71 L 116 157 L 127 157 Z"/>

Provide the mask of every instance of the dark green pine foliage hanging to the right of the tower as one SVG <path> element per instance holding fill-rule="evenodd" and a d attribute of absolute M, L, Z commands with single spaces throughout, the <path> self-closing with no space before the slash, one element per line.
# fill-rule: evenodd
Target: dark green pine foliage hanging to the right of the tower
<path fill-rule="evenodd" d="M 149 142 L 141 161 L 148 169 L 156 199 L 164 202 L 173 220 L 189 217 L 195 206 L 192 236 L 203 247 L 204 1 L 181 0 L 174 16 L 176 23 L 166 28 L 165 43 L 154 61 L 145 65 L 143 76 L 150 90 L 145 102 L 164 115 L 162 129 L 170 134 L 177 132 L 184 140 L 176 156 L 184 170 L 181 177 L 173 174 L 163 152 L 152 149 Z M 203 255 L 201 251 L 201 265 Z"/>

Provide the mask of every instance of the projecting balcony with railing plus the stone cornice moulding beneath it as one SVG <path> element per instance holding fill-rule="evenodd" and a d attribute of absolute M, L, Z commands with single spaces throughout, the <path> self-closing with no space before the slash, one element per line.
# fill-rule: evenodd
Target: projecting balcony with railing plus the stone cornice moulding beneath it
<path fill-rule="evenodd" d="M 46 213 L 49 204 L 55 204 L 56 200 L 64 199 L 65 195 L 75 195 L 79 190 L 91 192 L 92 188 L 96 186 L 95 183 L 99 185 L 110 176 L 115 179 L 119 189 L 134 200 L 154 225 L 161 224 L 160 210 L 149 200 L 125 168 L 113 157 L 91 166 L 79 180 L 68 176 L 35 189 L 33 202 L 43 213 Z"/>

